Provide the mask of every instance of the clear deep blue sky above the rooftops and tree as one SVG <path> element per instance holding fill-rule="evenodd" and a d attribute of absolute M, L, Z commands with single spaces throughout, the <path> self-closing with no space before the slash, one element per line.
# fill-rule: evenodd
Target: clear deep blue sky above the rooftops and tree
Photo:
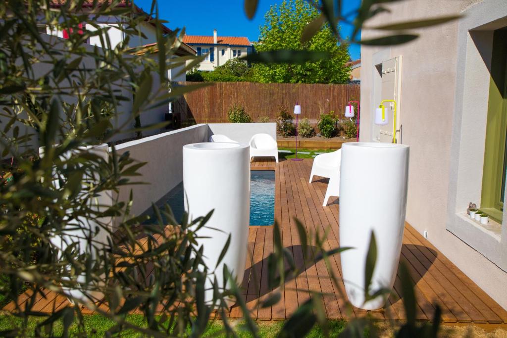
<path fill-rule="evenodd" d="M 188 35 L 246 36 L 250 42 L 259 40 L 259 26 L 264 24 L 264 14 L 271 5 L 282 0 L 259 0 L 257 13 L 248 20 L 243 9 L 243 0 L 158 0 L 160 18 L 169 21 L 171 28 L 185 27 Z M 343 0 L 343 13 L 357 8 L 361 0 Z M 135 0 L 135 4 L 150 12 L 152 0 Z M 348 36 L 352 27 L 342 25 L 342 36 Z M 351 45 L 349 53 L 352 60 L 360 57 L 359 45 Z"/>

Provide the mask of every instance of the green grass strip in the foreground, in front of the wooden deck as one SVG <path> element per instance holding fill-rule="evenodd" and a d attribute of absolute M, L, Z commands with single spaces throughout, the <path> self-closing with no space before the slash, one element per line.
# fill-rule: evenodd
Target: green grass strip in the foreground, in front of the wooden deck
<path fill-rule="evenodd" d="M 33 336 L 33 330 L 37 323 L 43 321 L 44 319 L 37 317 L 30 317 L 29 319 L 29 329 L 28 336 Z M 128 315 L 127 320 L 136 325 L 143 325 L 144 316 L 143 315 Z M 114 323 L 112 320 L 106 319 L 100 315 L 85 315 L 84 316 L 85 327 L 87 330 L 88 337 L 103 337 L 104 332 L 111 328 Z M 242 322 L 235 321 L 233 324 L 241 325 Z M 260 321 L 258 322 L 259 327 L 259 335 L 262 337 L 275 337 L 276 333 L 280 331 L 283 326 L 282 321 Z M 9 330 L 12 328 L 20 327 L 22 324 L 22 320 L 20 318 L 10 316 L 10 315 L 0 315 L 0 331 Z M 53 335 L 58 336 L 61 335 L 62 332 L 62 323 L 61 320 L 56 322 L 54 326 Z M 345 327 L 345 321 L 330 321 L 330 331 L 337 334 L 343 330 Z M 213 337 L 223 337 L 225 334 L 221 334 L 223 330 L 223 326 L 220 321 L 210 322 L 206 332 L 202 336 L 213 336 Z M 77 325 L 73 324 L 70 327 L 69 335 L 73 336 L 78 333 Z M 141 337 L 142 334 L 137 332 L 132 332 L 126 330 L 121 333 L 121 337 Z M 238 336 L 240 337 L 250 337 L 251 335 L 247 332 L 241 332 L 241 329 L 238 327 Z M 323 337 L 323 332 L 319 327 L 314 327 L 307 337 Z"/>

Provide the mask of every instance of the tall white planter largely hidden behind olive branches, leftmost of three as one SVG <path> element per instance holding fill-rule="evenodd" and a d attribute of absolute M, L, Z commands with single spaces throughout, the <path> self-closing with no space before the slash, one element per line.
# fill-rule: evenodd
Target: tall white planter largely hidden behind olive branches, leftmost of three
<path fill-rule="evenodd" d="M 61 159 L 66 161 L 70 159 L 73 154 L 78 152 L 87 152 L 89 154 L 94 154 L 103 160 L 107 161 L 108 159 L 108 146 L 105 143 L 93 146 L 84 146 L 74 149 L 73 151 L 69 151 L 61 155 Z M 44 147 L 39 148 L 39 155 L 41 158 L 44 157 Z M 58 178 L 55 177 L 55 173 L 53 173 L 53 186 L 56 189 L 60 189 L 60 182 Z M 88 175 L 83 177 L 83 191 L 88 189 L 86 184 L 95 184 L 100 179 L 99 175 L 94 173 L 93 175 Z M 86 181 L 86 182 L 85 182 Z M 89 207 L 92 210 L 96 211 L 104 211 L 107 207 L 112 205 L 112 192 L 111 191 L 102 191 L 98 193 L 98 196 L 90 198 Z M 68 214 L 70 214 L 72 210 L 68 210 Z M 79 229 L 76 229 L 79 226 Z M 88 253 L 92 259 L 96 259 L 102 250 L 107 249 L 110 243 L 110 237 L 112 232 L 112 217 L 101 217 L 96 220 L 90 220 L 86 217 L 79 216 L 77 219 L 69 219 L 61 233 L 55 234 L 51 236 L 51 243 L 58 248 L 60 258 L 62 256 L 62 252 L 69 245 L 76 244 L 75 249 L 80 254 Z M 111 241 L 112 242 L 112 241 Z M 70 269 L 71 266 L 68 266 Z M 62 277 L 64 280 L 68 280 L 67 277 Z M 83 273 L 76 277 L 76 280 L 81 283 L 84 289 L 72 289 L 68 287 L 64 287 L 63 291 L 74 298 L 81 299 L 82 303 L 91 303 L 99 301 L 103 298 L 103 293 L 99 291 L 89 291 L 86 290 L 86 274 Z M 74 303 L 72 298 L 69 298 L 71 303 Z"/>

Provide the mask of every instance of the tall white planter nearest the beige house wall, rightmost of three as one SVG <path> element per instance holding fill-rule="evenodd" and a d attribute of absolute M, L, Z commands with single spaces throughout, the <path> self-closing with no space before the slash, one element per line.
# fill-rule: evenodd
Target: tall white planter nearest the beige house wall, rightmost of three
<path fill-rule="evenodd" d="M 370 291 L 392 288 L 400 260 L 405 211 L 409 146 L 358 142 L 342 145 L 340 169 L 340 246 L 345 290 L 360 309 L 380 309 L 386 297 L 365 303 L 365 264 L 371 233 L 377 261 Z"/>

